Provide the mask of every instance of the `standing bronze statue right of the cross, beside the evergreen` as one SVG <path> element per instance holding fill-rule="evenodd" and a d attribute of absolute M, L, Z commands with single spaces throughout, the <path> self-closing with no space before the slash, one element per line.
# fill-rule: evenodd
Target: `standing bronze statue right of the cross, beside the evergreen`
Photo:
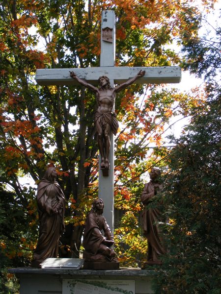
<path fill-rule="evenodd" d="M 158 181 L 160 174 L 161 171 L 159 169 L 151 169 L 149 172 L 150 181 L 144 185 L 144 189 L 140 197 L 144 205 L 144 211 L 142 214 L 143 233 L 147 238 L 148 244 L 147 262 L 145 262 L 145 265 L 162 264 L 159 256 L 166 253 L 162 244 L 158 225 L 161 221 L 161 213 L 158 208 L 147 208 L 147 205 L 151 203 L 153 197 L 162 189 L 162 184 Z"/>

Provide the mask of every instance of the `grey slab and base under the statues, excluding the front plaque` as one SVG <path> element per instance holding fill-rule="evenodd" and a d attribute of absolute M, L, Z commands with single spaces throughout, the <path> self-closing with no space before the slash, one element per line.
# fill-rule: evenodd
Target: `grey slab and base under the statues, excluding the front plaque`
<path fill-rule="evenodd" d="M 135 281 L 135 294 L 153 294 L 154 270 L 120 268 L 120 270 L 73 270 L 17 268 L 8 272 L 20 279 L 20 294 L 65 294 L 62 292 L 65 280 L 125 280 Z M 78 293 L 80 294 L 80 293 Z"/>

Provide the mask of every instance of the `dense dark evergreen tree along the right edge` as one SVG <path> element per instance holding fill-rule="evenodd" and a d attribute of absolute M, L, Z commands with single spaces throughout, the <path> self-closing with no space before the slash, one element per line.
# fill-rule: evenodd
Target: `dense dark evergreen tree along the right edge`
<path fill-rule="evenodd" d="M 220 292 L 219 97 L 196 116 L 166 160 L 165 238 L 168 255 L 155 293 Z"/>

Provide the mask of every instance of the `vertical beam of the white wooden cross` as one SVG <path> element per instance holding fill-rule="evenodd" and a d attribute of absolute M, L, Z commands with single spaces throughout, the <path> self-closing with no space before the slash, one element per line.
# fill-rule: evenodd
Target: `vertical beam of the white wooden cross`
<path fill-rule="evenodd" d="M 112 10 L 102 11 L 101 22 L 101 67 L 115 65 L 115 14 Z M 110 79 L 111 87 L 114 86 Z M 114 111 L 114 109 L 112 110 Z M 113 234 L 113 185 L 114 185 L 114 138 L 110 134 L 110 170 L 109 176 L 103 176 L 101 171 L 101 157 L 99 156 L 99 187 L 98 197 L 104 200 L 104 216 Z"/>

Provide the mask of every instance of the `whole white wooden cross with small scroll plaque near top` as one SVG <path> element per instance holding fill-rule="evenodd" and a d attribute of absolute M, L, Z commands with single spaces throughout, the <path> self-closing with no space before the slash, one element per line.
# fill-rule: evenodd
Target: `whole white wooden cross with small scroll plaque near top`
<path fill-rule="evenodd" d="M 39 85 L 79 85 L 70 77 L 74 71 L 80 78 L 88 83 L 97 85 L 98 78 L 107 75 L 111 87 L 121 84 L 134 77 L 140 70 L 146 71 L 145 75 L 138 78 L 138 84 L 179 83 L 181 70 L 179 67 L 115 67 L 115 14 L 114 11 L 102 11 L 101 27 L 101 57 L 100 67 L 85 69 L 41 69 L 36 72 L 36 81 Z M 114 184 L 114 140 L 110 135 L 110 170 L 109 176 L 102 175 L 99 164 L 99 189 L 98 196 L 104 200 L 104 216 L 113 232 L 113 184 Z"/>

